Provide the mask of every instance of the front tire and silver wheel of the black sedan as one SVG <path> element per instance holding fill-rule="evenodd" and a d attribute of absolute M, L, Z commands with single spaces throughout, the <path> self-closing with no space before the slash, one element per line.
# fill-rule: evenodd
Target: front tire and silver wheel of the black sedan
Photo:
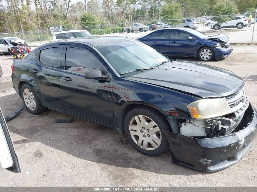
<path fill-rule="evenodd" d="M 135 107 L 127 114 L 124 129 L 131 145 L 145 155 L 158 156 L 169 148 L 164 131 L 171 131 L 171 127 L 155 109 Z"/>

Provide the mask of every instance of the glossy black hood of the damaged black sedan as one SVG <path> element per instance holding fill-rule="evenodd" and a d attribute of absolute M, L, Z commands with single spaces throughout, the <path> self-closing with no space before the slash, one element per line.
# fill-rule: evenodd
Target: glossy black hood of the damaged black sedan
<path fill-rule="evenodd" d="M 191 93 L 202 98 L 231 95 L 244 85 L 231 71 L 194 62 L 176 61 L 127 79 Z"/>

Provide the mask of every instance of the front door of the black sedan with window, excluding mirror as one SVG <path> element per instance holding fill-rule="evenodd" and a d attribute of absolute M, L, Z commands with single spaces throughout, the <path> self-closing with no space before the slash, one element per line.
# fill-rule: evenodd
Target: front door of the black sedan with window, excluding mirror
<path fill-rule="evenodd" d="M 113 78 L 85 79 L 85 71 L 92 69 L 103 73 L 104 66 L 91 50 L 75 45 L 64 47 L 60 74 L 64 106 L 70 113 L 114 125 Z"/>

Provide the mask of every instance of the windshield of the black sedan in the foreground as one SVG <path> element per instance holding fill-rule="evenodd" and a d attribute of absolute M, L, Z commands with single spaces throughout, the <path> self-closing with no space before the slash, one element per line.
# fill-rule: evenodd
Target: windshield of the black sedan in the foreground
<path fill-rule="evenodd" d="M 170 60 L 160 52 L 137 40 L 115 42 L 95 47 L 117 73 L 153 67 Z"/>

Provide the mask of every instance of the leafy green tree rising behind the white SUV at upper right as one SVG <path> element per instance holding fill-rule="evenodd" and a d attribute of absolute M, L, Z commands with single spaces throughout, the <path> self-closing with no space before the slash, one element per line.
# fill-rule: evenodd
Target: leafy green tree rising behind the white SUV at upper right
<path fill-rule="evenodd" d="M 234 15 L 238 12 L 237 5 L 235 5 L 231 0 L 217 0 L 216 4 L 213 6 L 213 11 L 215 15 Z M 229 21 L 234 16 L 222 16 L 213 17 L 211 20 L 217 21 L 218 23 L 225 23 Z"/>

